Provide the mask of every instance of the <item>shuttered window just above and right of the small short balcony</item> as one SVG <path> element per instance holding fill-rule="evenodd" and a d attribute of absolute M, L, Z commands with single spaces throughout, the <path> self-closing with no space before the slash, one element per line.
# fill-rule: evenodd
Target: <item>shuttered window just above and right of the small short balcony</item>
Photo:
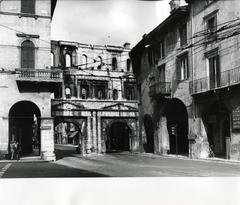
<path fill-rule="evenodd" d="M 188 55 L 177 58 L 177 78 L 178 80 L 186 80 L 189 77 L 189 69 L 188 69 Z"/>

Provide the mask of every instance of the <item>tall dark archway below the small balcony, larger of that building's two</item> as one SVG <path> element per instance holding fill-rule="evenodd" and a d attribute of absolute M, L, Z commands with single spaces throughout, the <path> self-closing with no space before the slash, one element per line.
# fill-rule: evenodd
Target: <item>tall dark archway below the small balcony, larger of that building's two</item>
<path fill-rule="evenodd" d="M 173 98 L 169 100 L 165 111 L 169 133 L 169 153 L 187 155 L 189 142 L 186 106 L 179 99 Z"/>

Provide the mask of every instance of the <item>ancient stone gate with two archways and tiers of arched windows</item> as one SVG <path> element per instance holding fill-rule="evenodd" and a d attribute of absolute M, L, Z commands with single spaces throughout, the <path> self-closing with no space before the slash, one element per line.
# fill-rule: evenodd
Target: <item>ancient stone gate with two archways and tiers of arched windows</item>
<path fill-rule="evenodd" d="M 52 68 L 64 74 L 52 100 L 56 143 L 79 143 L 82 154 L 139 151 L 129 46 L 52 41 Z"/>

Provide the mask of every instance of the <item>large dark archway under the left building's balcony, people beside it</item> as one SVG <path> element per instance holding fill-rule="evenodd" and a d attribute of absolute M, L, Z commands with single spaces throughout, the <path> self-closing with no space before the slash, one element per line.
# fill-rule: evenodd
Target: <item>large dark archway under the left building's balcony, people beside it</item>
<path fill-rule="evenodd" d="M 40 110 L 30 101 L 14 104 L 9 111 L 9 143 L 17 141 L 21 155 L 40 155 Z"/>

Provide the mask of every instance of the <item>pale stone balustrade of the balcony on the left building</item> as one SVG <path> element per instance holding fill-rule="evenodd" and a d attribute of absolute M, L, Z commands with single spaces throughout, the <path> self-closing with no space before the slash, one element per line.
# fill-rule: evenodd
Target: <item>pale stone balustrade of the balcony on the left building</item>
<path fill-rule="evenodd" d="M 16 73 L 18 81 L 62 82 L 63 80 L 61 70 L 16 69 Z"/>

